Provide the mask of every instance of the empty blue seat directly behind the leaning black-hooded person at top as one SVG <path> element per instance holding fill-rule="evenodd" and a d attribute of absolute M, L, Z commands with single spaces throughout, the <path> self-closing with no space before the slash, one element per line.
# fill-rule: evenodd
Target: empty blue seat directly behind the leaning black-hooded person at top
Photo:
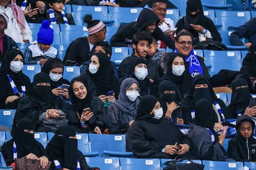
<path fill-rule="evenodd" d="M 134 22 L 142 11 L 142 7 L 108 7 L 109 19 L 119 27 L 122 23 Z"/>

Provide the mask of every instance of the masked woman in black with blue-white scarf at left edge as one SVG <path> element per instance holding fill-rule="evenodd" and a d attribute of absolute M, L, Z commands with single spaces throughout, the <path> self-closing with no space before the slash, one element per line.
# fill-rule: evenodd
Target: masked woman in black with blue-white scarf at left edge
<path fill-rule="evenodd" d="M 0 68 L 0 108 L 16 109 L 19 99 L 32 92 L 30 79 L 22 73 L 23 59 L 22 52 L 17 49 L 4 55 Z"/>

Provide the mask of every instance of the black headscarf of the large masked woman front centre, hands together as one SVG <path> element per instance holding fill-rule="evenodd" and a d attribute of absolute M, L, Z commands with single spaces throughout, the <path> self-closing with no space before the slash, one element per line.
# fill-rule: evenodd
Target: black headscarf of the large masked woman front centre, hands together
<path fill-rule="evenodd" d="M 153 108 L 156 105 L 156 102 L 158 102 L 159 100 L 156 99 L 155 96 L 153 95 L 144 95 L 142 97 L 142 99 L 140 99 L 140 103 L 139 103 L 139 107 L 138 107 L 138 111 L 137 111 L 137 115 L 135 117 L 135 121 L 136 120 L 143 120 L 143 121 L 147 121 L 149 123 L 161 123 L 161 121 L 163 120 L 161 119 L 155 119 L 153 118 L 153 115 L 150 115 L 151 111 L 153 110 Z"/>

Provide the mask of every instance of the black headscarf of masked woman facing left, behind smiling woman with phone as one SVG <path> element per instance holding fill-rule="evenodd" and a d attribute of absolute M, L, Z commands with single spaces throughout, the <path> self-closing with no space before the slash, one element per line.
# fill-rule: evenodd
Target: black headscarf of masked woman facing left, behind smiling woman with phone
<path fill-rule="evenodd" d="M 98 89 L 99 94 L 106 94 L 106 92 L 113 90 L 116 94 L 119 92 L 119 81 L 114 76 L 114 70 L 109 60 L 108 55 L 103 52 L 97 52 L 93 55 L 98 57 L 100 67 L 95 74 L 90 73 L 93 83 Z"/>

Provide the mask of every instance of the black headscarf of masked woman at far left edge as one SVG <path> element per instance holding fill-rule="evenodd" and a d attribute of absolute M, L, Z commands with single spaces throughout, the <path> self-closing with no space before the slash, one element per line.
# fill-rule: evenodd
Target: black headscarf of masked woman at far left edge
<path fill-rule="evenodd" d="M 0 73 L 4 74 L 5 76 L 7 74 L 11 76 L 16 86 L 26 86 L 28 83 L 30 83 L 30 80 L 26 75 L 22 73 L 22 70 L 18 73 L 14 73 L 14 71 L 10 69 L 10 63 L 17 55 L 21 55 L 24 60 L 22 52 L 17 49 L 10 49 L 6 52 L 4 55 L 4 60 L 2 61 Z"/>

